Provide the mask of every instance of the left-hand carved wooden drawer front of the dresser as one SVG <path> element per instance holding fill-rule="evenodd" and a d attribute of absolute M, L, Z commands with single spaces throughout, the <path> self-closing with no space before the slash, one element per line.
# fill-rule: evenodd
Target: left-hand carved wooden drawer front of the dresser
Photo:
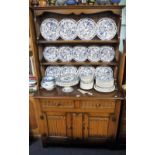
<path fill-rule="evenodd" d="M 74 108 L 73 100 L 41 99 L 40 103 L 42 108 Z"/>

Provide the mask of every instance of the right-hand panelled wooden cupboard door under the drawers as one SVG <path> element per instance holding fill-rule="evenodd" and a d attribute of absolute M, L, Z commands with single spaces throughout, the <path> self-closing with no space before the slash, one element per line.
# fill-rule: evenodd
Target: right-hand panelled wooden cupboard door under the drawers
<path fill-rule="evenodd" d="M 110 114 L 85 114 L 84 137 L 85 138 L 109 138 L 113 130 Z"/>

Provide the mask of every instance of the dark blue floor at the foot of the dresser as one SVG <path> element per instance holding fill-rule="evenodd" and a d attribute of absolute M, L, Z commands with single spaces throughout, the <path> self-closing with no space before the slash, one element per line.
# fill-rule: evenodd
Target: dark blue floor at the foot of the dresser
<path fill-rule="evenodd" d="M 43 148 L 41 140 L 30 144 L 29 155 L 126 155 L 126 150 L 108 150 L 102 148 L 48 147 Z"/>

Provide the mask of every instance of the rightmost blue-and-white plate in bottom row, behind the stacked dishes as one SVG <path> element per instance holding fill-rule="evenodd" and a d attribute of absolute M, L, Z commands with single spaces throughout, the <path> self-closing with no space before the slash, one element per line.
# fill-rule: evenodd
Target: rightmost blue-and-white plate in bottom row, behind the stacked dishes
<path fill-rule="evenodd" d="M 99 79 L 102 81 L 109 81 L 113 78 L 113 70 L 111 67 L 99 66 L 96 68 L 95 76 L 96 76 L 96 79 Z"/>

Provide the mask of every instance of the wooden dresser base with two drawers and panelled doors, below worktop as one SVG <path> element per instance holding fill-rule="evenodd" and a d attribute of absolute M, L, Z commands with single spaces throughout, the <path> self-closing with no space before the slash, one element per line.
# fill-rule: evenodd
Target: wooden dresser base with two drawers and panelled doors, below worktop
<path fill-rule="evenodd" d="M 36 99 L 43 142 L 105 143 L 117 134 L 120 100 Z"/>

